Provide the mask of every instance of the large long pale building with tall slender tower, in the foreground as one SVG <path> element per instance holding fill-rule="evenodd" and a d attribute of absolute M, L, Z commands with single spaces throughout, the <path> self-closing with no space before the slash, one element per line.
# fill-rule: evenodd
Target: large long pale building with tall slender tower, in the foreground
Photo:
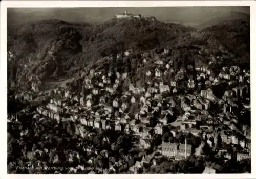
<path fill-rule="evenodd" d="M 162 155 L 167 157 L 182 156 L 186 158 L 191 154 L 190 144 L 162 143 Z"/>

